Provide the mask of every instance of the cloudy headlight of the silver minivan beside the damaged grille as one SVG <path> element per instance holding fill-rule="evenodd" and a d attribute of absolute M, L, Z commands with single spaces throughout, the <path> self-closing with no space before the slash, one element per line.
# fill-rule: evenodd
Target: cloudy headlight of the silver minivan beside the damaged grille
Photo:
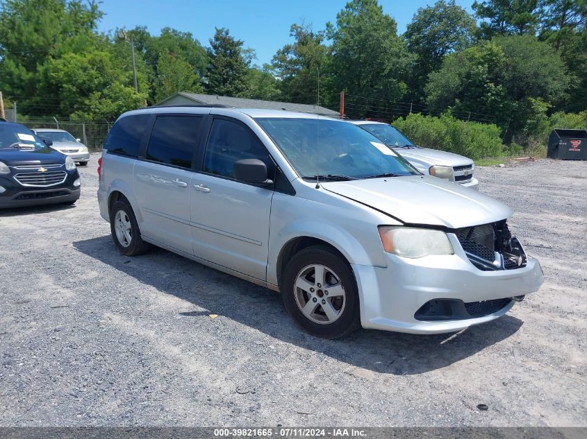
<path fill-rule="evenodd" d="M 454 254 L 452 244 L 442 230 L 388 225 L 381 225 L 378 228 L 383 249 L 393 255 L 424 257 Z"/>

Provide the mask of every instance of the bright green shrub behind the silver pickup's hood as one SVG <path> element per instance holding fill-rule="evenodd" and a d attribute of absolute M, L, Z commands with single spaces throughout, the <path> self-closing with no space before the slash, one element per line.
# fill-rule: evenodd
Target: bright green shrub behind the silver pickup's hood
<path fill-rule="evenodd" d="M 393 125 L 415 144 L 473 160 L 499 157 L 508 152 L 502 144 L 499 128 L 489 123 L 465 122 L 449 114 L 435 117 L 414 113 L 395 120 Z"/>

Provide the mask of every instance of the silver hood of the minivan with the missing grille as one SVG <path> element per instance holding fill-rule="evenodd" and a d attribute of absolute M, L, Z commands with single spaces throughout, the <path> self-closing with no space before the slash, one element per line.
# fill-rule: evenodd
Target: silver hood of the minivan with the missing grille
<path fill-rule="evenodd" d="M 461 184 L 431 177 L 321 182 L 324 189 L 384 212 L 402 223 L 457 229 L 508 218 L 512 210 Z"/>

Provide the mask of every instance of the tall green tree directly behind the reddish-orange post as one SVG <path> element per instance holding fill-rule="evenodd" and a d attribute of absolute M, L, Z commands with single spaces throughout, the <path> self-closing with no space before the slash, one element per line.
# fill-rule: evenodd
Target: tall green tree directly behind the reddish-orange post
<path fill-rule="evenodd" d="M 345 110 L 354 116 L 390 114 L 406 93 L 410 58 L 397 24 L 377 0 L 352 0 L 331 28 L 331 87 L 349 94 Z M 363 96 L 353 101 L 352 95 Z M 362 100 L 367 98 L 367 100 Z M 378 103 L 374 103 L 378 99 Z"/>

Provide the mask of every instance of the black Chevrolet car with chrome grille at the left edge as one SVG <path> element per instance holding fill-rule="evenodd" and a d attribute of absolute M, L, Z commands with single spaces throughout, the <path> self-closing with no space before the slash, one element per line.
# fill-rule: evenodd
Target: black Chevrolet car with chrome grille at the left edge
<path fill-rule="evenodd" d="M 0 208 L 73 204 L 80 178 L 71 157 L 19 123 L 0 121 Z"/>

